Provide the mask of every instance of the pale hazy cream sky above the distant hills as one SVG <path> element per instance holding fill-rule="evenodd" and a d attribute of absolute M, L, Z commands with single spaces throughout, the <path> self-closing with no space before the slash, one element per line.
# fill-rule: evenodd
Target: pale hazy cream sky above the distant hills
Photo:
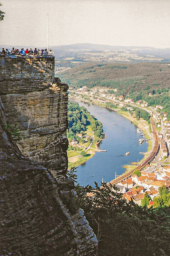
<path fill-rule="evenodd" d="M 0 0 L 0 44 L 170 47 L 170 0 Z"/>

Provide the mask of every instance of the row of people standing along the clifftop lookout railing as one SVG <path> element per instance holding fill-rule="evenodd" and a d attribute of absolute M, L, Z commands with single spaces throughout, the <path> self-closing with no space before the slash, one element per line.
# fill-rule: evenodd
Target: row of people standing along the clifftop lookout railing
<path fill-rule="evenodd" d="M 54 54 L 54 52 L 52 52 L 52 50 L 50 49 L 49 52 L 47 51 L 47 49 L 37 49 L 35 48 L 34 51 L 32 50 L 32 48 L 30 48 L 30 50 L 26 49 L 24 50 L 24 48 L 21 48 L 21 50 L 19 51 L 19 49 L 15 49 L 14 47 L 12 48 L 11 52 L 6 49 L 6 51 L 4 50 L 4 48 L 2 48 L 2 52 L 0 52 L 0 54 L 4 54 L 4 55 L 52 55 Z"/>

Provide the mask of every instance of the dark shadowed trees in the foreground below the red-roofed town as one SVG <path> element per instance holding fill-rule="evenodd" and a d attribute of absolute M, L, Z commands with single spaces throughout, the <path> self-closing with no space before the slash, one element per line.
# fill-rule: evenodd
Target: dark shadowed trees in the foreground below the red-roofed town
<path fill-rule="evenodd" d="M 68 175 L 75 182 L 76 170 Z M 98 239 L 96 256 L 169 256 L 170 194 L 160 189 L 155 208 L 127 202 L 115 185 L 75 185 L 80 207 Z M 93 192 L 93 196 L 87 196 Z M 146 200 L 147 201 L 147 200 Z"/>

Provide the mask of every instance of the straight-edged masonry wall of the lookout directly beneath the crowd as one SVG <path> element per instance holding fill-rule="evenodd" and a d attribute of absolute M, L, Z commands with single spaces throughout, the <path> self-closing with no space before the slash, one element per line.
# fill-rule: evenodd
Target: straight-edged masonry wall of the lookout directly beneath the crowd
<path fill-rule="evenodd" d="M 0 55 L 0 82 L 4 82 L 4 88 L 0 91 L 9 92 L 9 88 L 5 87 L 5 81 L 11 81 L 18 86 L 20 91 L 21 79 L 33 79 L 52 83 L 54 80 L 55 56 L 47 55 L 20 55 L 20 54 L 1 54 Z M 15 82 L 14 82 L 15 81 Z M 32 82 L 30 81 L 32 84 Z M 13 86 L 14 86 L 13 84 Z M 23 83 L 22 83 L 23 84 Z M 28 84 L 28 82 L 27 82 Z M 2 87 L 2 85 L 1 85 Z M 24 90 L 28 89 L 28 85 Z M 10 87 L 11 88 L 11 87 Z"/>

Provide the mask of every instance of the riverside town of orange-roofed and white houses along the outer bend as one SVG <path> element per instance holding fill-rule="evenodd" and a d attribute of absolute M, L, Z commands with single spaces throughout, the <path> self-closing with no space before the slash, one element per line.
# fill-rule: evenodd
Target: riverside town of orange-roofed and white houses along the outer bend
<path fill-rule="evenodd" d="M 135 174 L 134 171 L 134 173 L 129 173 L 129 176 L 126 175 L 126 179 L 122 176 L 121 180 L 120 176 L 119 182 L 116 183 L 117 179 L 110 182 L 120 189 L 120 192 L 127 201 L 133 200 L 138 205 L 141 205 L 142 199 L 144 199 L 144 196 L 147 193 L 150 198 L 148 207 L 150 207 L 154 204 L 154 197 L 159 196 L 159 188 L 162 188 L 162 186 L 165 186 L 167 190 L 170 188 L 170 122 L 167 120 L 167 113 L 161 112 L 163 108 L 161 105 L 150 107 L 144 100 L 137 100 L 134 102 L 133 99 L 124 99 L 123 95 L 116 97 L 115 94 L 110 94 L 107 91 L 107 88 L 89 89 L 86 86 L 75 88 L 70 85 L 71 97 L 99 104 L 100 106 L 106 106 L 107 103 L 113 103 L 117 106 L 117 108 L 114 109 L 115 111 L 117 111 L 117 109 L 124 109 L 130 112 L 134 107 L 137 107 L 148 112 L 154 120 L 159 140 L 158 153 L 152 161 L 148 161 L 144 168 L 141 168 L 139 175 Z M 152 97 L 152 94 L 149 93 L 149 96 Z M 138 128 L 138 130 L 140 129 Z M 149 130 L 147 130 L 147 132 L 152 139 L 153 149 L 153 134 L 152 132 L 149 132 Z M 149 153 L 151 153 L 151 151 Z M 149 155 L 149 153 L 147 155 Z M 90 195 L 92 194 L 89 193 L 89 196 Z"/>

